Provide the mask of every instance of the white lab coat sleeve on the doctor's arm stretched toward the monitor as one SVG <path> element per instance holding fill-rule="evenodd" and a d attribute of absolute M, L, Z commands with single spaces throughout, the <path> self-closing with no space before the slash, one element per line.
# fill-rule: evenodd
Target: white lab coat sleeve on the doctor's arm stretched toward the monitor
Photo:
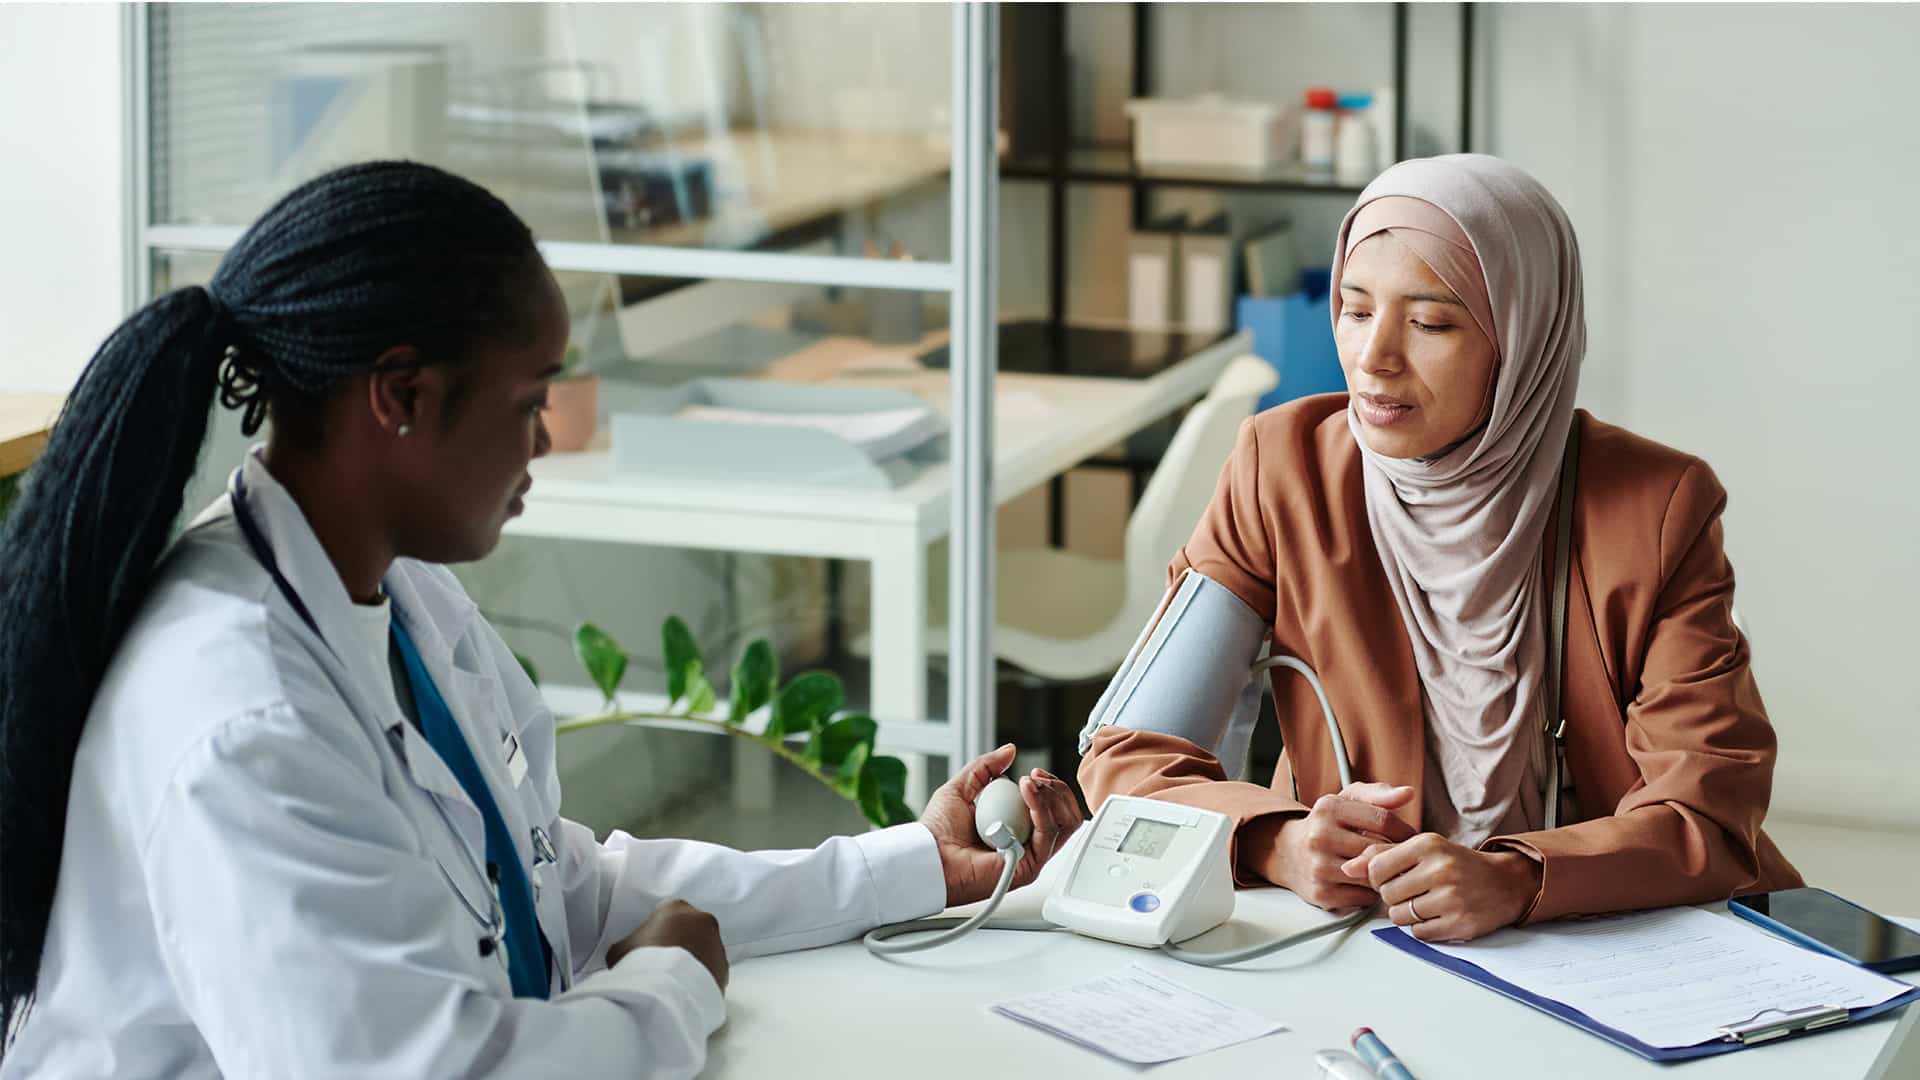
<path fill-rule="evenodd" d="M 801 851 L 626 832 L 601 844 L 564 819 L 555 832 L 578 974 L 597 970 L 607 947 L 668 899 L 712 913 L 730 959 L 831 945 L 947 903 L 939 851 L 922 824 L 833 836 Z"/>

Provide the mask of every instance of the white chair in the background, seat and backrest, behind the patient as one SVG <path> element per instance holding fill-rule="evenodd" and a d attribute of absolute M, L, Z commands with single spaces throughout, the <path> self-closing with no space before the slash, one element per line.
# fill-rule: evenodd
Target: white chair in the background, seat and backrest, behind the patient
<path fill-rule="evenodd" d="M 1123 557 L 1000 548 L 993 655 L 1048 682 L 1119 667 L 1167 588 L 1167 561 L 1192 534 L 1235 438 L 1279 373 L 1258 356 L 1227 363 L 1187 411 L 1127 519 Z M 947 655 L 947 557 L 927 561 L 927 651 Z"/>

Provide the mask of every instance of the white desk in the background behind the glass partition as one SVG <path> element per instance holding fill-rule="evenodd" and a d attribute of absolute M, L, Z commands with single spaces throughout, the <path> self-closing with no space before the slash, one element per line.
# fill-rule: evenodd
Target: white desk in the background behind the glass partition
<path fill-rule="evenodd" d="M 1250 334 L 1235 334 L 1150 379 L 1000 375 L 995 382 L 1000 402 L 1041 400 L 1050 409 L 1046 415 L 998 409 L 995 500 L 1004 503 L 1033 490 L 1204 396 L 1227 361 L 1250 348 Z M 943 411 L 952 405 L 945 371 L 845 379 L 854 386 L 912 390 Z M 872 713 L 879 721 L 879 746 L 897 753 L 954 753 L 958 732 L 929 721 L 925 703 L 925 559 L 927 546 L 948 530 L 947 465 L 922 469 L 883 492 L 714 484 L 616 477 L 599 442 L 536 461 L 532 475 L 526 513 L 507 525 L 520 536 L 872 563 Z"/>

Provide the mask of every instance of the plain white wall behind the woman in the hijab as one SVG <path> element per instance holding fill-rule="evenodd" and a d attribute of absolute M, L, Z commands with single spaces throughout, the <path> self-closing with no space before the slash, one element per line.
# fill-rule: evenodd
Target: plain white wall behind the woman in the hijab
<path fill-rule="evenodd" d="M 1496 6 L 1492 148 L 1586 248 L 1590 407 L 1726 484 L 1774 807 L 1920 824 L 1920 8 Z"/>

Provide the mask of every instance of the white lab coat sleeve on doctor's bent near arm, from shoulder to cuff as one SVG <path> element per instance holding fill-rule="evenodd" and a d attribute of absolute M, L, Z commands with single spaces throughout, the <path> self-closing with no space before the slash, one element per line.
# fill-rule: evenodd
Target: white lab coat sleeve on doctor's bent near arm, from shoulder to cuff
<path fill-rule="evenodd" d="M 376 751 L 357 724 L 276 705 L 173 765 L 140 867 L 167 976 L 223 1074 L 701 1070 L 726 1005 L 682 949 L 636 949 L 553 1001 L 490 986 L 478 922 Z"/>

